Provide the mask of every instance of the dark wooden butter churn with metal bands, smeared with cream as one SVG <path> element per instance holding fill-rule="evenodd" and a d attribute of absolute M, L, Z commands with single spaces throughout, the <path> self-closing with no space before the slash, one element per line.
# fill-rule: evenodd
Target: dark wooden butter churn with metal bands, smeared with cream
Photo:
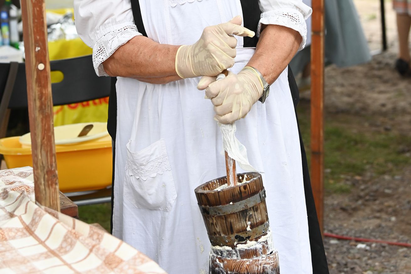
<path fill-rule="evenodd" d="M 279 274 L 261 174 L 237 174 L 237 181 L 216 190 L 224 176 L 194 190 L 212 245 L 209 273 Z"/>

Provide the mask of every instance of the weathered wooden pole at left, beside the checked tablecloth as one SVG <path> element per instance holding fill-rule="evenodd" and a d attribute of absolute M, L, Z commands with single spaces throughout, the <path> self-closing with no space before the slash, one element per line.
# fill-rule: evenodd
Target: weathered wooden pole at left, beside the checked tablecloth
<path fill-rule="evenodd" d="M 60 211 L 44 0 L 21 1 L 36 202 Z"/>

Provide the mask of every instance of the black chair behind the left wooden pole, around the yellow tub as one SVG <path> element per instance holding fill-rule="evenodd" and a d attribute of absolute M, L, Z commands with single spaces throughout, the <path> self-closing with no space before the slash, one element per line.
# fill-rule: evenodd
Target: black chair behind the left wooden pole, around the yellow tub
<path fill-rule="evenodd" d="M 73 104 L 109 96 L 110 77 L 97 77 L 92 56 L 50 62 L 50 70 L 62 72 L 64 78 L 51 84 L 53 104 Z M 10 109 L 27 109 L 27 86 L 24 63 L 0 63 L 0 138 L 5 137 Z M 75 196 L 73 196 L 75 194 Z M 71 193 L 76 204 L 110 202 L 111 186 L 107 189 Z"/>

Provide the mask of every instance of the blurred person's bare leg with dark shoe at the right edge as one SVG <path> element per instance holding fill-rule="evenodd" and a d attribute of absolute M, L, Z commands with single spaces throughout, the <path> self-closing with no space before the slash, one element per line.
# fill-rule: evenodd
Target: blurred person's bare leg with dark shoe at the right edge
<path fill-rule="evenodd" d="M 411 0 L 393 0 L 397 12 L 397 31 L 399 41 L 398 59 L 395 69 L 402 76 L 411 76 L 408 37 L 411 26 Z"/>

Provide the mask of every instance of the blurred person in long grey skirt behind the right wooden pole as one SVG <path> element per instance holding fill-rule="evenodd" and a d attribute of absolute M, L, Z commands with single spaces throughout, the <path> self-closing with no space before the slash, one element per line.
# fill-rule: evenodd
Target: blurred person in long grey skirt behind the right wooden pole
<path fill-rule="evenodd" d="M 409 3 L 411 0 L 404 0 Z M 311 7 L 312 0 L 303 0 Z M 402 2 L 402 1 L 401 1 Z M 307 43 L 291 60 L 294 75 L 301 72 L 297 79 L 298 88 L 304 91 L 311 86 L 311 17 L 307 19 Z M 367 63 L 371 60 L 367 39 L 356 7 L 352 0 L 325 0 L 325 58 L 326 64 L 349 67 Z"/>

